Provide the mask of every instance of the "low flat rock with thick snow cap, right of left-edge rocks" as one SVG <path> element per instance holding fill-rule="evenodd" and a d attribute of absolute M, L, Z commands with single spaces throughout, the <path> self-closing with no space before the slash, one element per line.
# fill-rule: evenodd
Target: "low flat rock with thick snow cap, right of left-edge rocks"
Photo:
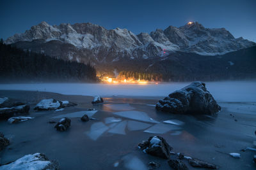
<path fill-rule="evenodd" d="M 76 106 L 76 103 L 71 103 L 69 101 L 57 101 L 56 99 L 43 99 L 38 104 L 36 104 L 34 110 L 58 110 L 60 108 Z"/>

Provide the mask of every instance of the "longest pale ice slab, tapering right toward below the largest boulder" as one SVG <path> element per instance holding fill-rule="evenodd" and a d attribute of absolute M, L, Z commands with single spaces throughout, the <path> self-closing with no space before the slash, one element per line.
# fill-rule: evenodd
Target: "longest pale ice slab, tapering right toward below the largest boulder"
<path fill-rule="evenodd" d="M 131 118 L 134 120 L 140 120 L 143 122 L 159 123 L 156 120 L 148 117 L 147 113 L 142 112 L 142 111 L 118 111 L 113 114 L 118 115 L 120 117 Z"/>

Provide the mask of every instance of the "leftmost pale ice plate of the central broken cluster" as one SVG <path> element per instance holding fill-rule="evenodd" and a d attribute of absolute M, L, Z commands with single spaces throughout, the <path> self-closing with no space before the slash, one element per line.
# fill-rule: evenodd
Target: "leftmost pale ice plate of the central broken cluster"
<path fill-rule="evenodd" d="M 109 127 L 102 122 L 92 124 L 90 132 L 84 132 L 89 138 L 96 141 L 104 132 L 108 131 Z"/>

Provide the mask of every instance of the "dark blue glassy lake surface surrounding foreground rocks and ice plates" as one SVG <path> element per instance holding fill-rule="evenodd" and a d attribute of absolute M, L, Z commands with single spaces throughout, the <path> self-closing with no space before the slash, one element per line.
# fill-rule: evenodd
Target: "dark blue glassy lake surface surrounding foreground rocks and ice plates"
<path fill-rule="evenodd" d="M 0 90 L 1 97 L 11 97 L 20 101 L 28 102 L 31 110 L 28 116 L 35 117 L 19 124 L 8 124 L 5 120 L 0 121 L 0 129 L 11 139 L 11 144 L 0 152 L 0 164 L 5 164 L 29 153 L 45 153 L 49 159 L 58 160 L 61 169 L 129 169 L 129 160 L 138 160 L 143 167 L 148 162 L 155 161 L 161 164 L 159 169 L 170 169 L 166 160 L 147 155 L 138 150 L 138 143 L 147 140 L 148 137 L 159 135 L 173 147 L 173 152 L 184 153 L 186 156 L 205 160 L 220 166 L 220 169 L 255 169 L 252 162 L 255 153 L 252 151 L 241 152 L 241 149 L 253 147 L 252 141 L 256 140 L 254 131 L 256 113 L 254 103 L 219 103 L 223 108 L 217 117 L 173 115 L 156 111 L 154 106 L 158 99 L 145 98 L 118 98 L 105 97 L 103 104 L 92 105 L 91 96 L 62 95 L 51 92 L 28 92 L 17 90 Z M 33 111 L 35 104 L 41 99 L 54 98 L 68 100 L 77 103 L 77 106 L 65 108 L 63 111 Z M 227 105 L 224 105 L 227 104 Z M 89 122 L 81 122 L 80 117 L 73 117 L 77 111 L 86 111 L 95 108 L 97 113 Z M 252 108 L 250 110 L 248 107 Z M 234 108 L 237 112 L 230 111 Z M 237 110 L 238 108 L 238 110 Z M 159 123 L 134 120 L 131 117 L 120 117 L 118 111 L 137 111 L 147 113 Z M 252 112 L 250 114 L 244 111 Z M 255 113 L 255 114 L 254 114 Z M 58 121 L 61 115 L 69 114 L 71 127 L 66 132 L 58 132 L 54 129 L 55 124 L 49 124 L 49 120 Z M 231 117 L 230 114 L 234 115 Z M 115 117 L 126 124 L 126 128 L 115 129 L 119 122 L 106 124 L 106 118 Z M 180 120 L 184 125 L 163 124 L 164 120 Z M 237 120 L 237 122 L 235 121 Z M 153 131 L 148 128 L 143 130 L 131 130 L 137 124 L 144 123 L 161 128 Z M 104 124 L 108 128 L 95 139 L 92 125 Z M 166 130 L 166 127 L 168 129 Z M 164 131 L 164 132 L 163 132 Z M 159 134 L 160 132 L 160 134 Z M 222 153 L 220 153 L 222 152 Z M 241 159 L 235 159 L 224 153 L 241 153 Z M 127 159 L 129 158 L 129 159 Z M 118 162 L 118 166 L 114 164 Z M 187 164 L 187 163 L 186 163 Z M 189 169 L 195 169 L 187 164 Z M 136 167 L 134 167 L 136 169 Z"/>

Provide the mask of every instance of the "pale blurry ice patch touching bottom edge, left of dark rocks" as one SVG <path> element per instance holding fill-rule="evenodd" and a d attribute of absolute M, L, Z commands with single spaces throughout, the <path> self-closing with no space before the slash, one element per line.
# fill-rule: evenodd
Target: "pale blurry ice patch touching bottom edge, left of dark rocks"
<path fill-rule="evenodd" d="M 147 166 L 136 156 L 127 155 L 124 157 L 124 164 L 130 170 L 147 170 Z"/>

